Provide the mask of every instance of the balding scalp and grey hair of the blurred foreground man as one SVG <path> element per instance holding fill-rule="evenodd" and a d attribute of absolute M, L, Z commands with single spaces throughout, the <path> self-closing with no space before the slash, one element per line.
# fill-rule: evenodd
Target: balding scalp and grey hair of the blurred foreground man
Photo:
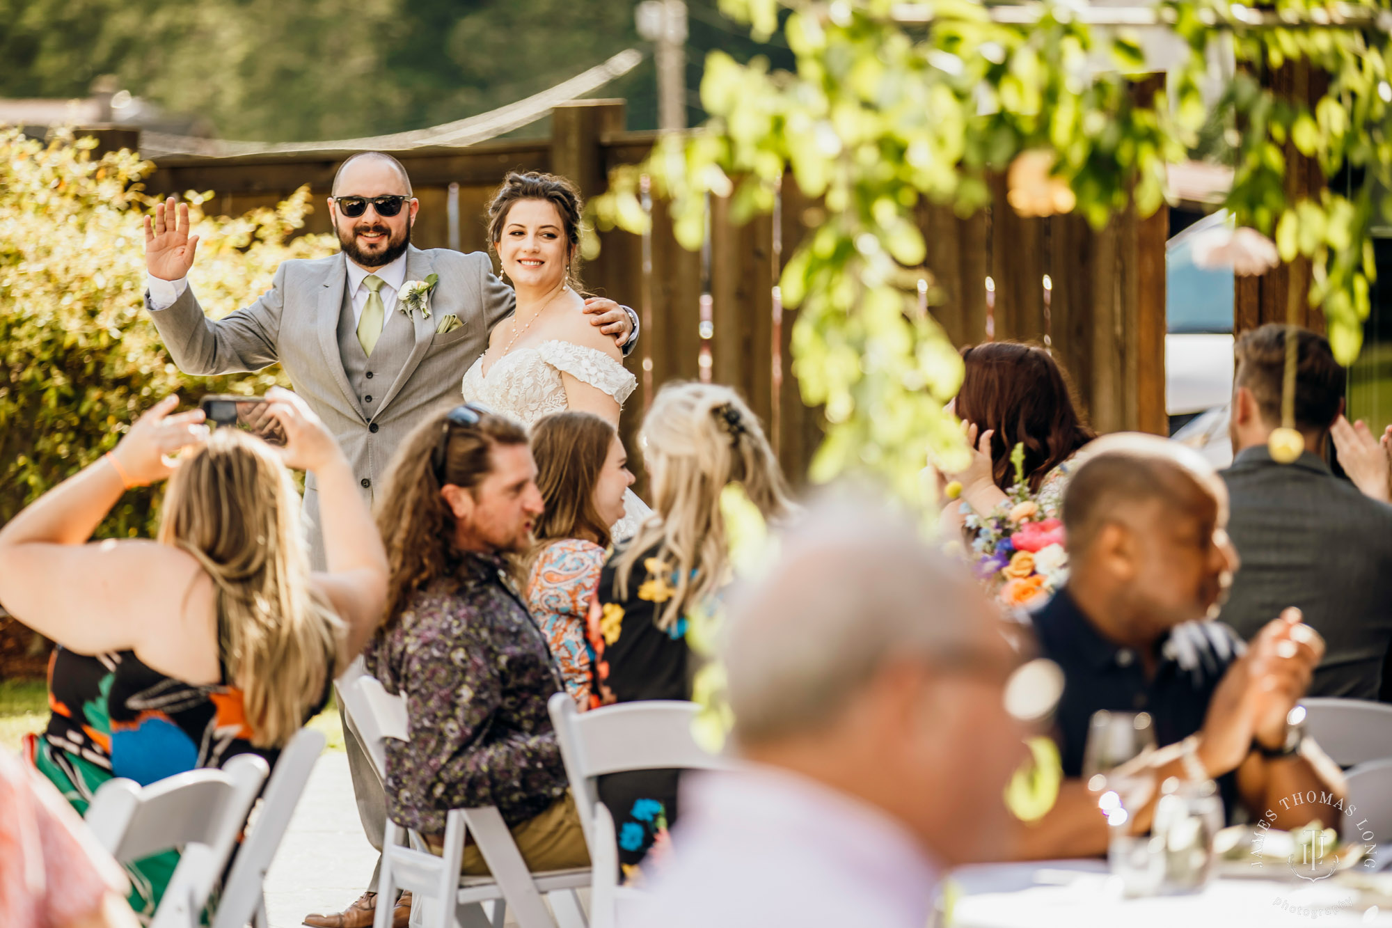
<path fill-rule="evenodd" d="M 827 500 L 731 608 L 725 669 L 738 734 L 827 725 L 891 656 L 949 656 L 987 638 L 969 571 L 864 500 Z"/>

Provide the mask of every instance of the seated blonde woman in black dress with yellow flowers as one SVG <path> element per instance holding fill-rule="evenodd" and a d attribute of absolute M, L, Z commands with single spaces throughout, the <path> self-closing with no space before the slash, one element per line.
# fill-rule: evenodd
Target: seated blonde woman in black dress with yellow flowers
<path fill-rule="evenodd" d="M 692 695 L 688 614 L 729 581 L 721 493 L 739 484 L 766 518 L 786 514 L 782 472 L 759 419 L 724 386 L 663 387 L 643 419 L 654 514 L 610 556 L 590 602 L 596 705 Z M 677 773 L 600 779 L 619 860 L 642 860 L 677 815 Z"/>

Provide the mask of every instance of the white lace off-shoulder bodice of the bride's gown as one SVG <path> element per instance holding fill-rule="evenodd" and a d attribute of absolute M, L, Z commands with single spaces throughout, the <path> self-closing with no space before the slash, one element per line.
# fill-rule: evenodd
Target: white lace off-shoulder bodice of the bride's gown
<path fill-rule="evenodd" d="M 604 390 L 619 405 L 638 387 L 638 379 L 603 351 L 551 340 L 498 358 L 489 368 L 489 376 L 483 376 L 480 357 L 464 375 L 464 399 L 532 425 L 548 412 L 567 408 L 562 371 Z"/>

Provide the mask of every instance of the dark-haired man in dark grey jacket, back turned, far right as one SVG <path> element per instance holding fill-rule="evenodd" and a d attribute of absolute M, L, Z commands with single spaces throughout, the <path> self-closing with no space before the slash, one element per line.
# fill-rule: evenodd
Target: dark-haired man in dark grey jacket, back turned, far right
<path fill-rule="evenodd" d="M 1286 337 L 1296 339 L 1295 428 L 1304 451 L 1281 464 L 1267 450 L 1281 425 Z M 1236 454 L 1222 472 L 1228 534 L 1242 559 L 1221 619 L 1251 638 L 1288 606 L 1325 641 L 1307 695 L 1377 699 L 1392 641 L 1392 506 L 1368 499 L 1325 464 L 1343 412 L 1345 371 L 1307 329 L 1265 325 L 1237 339 L 1229 431 Z"/>

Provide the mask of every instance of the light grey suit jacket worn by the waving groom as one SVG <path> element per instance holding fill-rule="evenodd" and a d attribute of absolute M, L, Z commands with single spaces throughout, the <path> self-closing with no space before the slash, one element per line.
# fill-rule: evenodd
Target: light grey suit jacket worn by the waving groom
<path fill-rule="evenodd" d="M 185 373 L 258 371 L 278 361 L 295 392 L 338 439 L 363 493 L 370 496 L 420 417 L 444 403 L 459 401 L 465 371 L 483 354 L 493 326 L 516 304 L 512 288 L 493 274 L 493 263 L 483 252 L 411 247 L 406 280 L 425 280 L 432 273 L 440 274 L 440 281 L 430 295 L 430 318 L 416 314 L 411 354 L 395 379 L 383 385 L 372 412 L 363 412 L 358 403 L 338 348 L 338 314 L 348 274 L 342 254 L 287 261 L 276 270 L 271 288 L 256 302 L 216 322 L 203 315 L 192 287 L 167 309 L 150 309 L 150 316 Z M 150 308 L 149 294 L 146 308 Z M 436 334 L 436 326 L 450 314 L 464 325 Z M 310 523 L 315 563 L 322 567 L 317 514 L 310 474 L 305 479 L 305 517 Z"/>

